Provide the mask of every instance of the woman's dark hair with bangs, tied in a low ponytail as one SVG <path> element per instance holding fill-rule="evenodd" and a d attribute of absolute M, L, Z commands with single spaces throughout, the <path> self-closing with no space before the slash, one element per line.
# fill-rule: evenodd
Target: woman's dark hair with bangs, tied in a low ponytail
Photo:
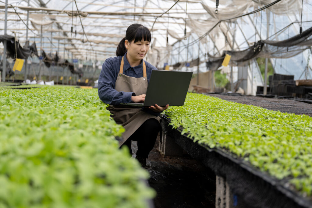
<path fill-rule="evenodd" d="M 151 41 L 152 36 L 151 32 L 147 27 L 144 27 L 141 24 L 132 24 L 127 28 L 126 36 L 119 42 L 116 50 L 116 56 L 124 56 L 127 49 L 124 45 L 124 41 L 128 40 L 129 42 L 133 41 Z"/>

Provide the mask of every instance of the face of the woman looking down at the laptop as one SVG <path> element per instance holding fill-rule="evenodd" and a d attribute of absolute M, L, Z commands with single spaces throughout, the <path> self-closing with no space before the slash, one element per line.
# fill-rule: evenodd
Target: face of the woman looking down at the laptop
<path fill-rule="evenodd" d="M 129 42 L 126 40 L 124 42 L 126 48 L 127 48 L 127 54 L 133 61 L 142 60 L 144 56 L 147 54 L 147 51 L 149 51 L 149 41 L 138 41 Z"/>

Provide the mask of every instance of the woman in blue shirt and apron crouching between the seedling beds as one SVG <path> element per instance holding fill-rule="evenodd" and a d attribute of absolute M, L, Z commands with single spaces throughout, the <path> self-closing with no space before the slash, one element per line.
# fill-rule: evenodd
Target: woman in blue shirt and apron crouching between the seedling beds
<path fill-rule="evenodd" d="M 149 29 L 141 24 L 130 25 L 117 46 L 116 57 L 106 59 L 102 65 L 98 90 L 100 99 L 110 104 L 113 119 L 126 130 L 119 146 L 128 146 L 132 155 L 131 141 L 138 141 L 136 158 L 143 167 L 161 129 L 159 115 L 168 105 L 133 108 L 120 103 L 144 102 L 152 70 L 157 70 L 143 60 L 150 41 Z"/>

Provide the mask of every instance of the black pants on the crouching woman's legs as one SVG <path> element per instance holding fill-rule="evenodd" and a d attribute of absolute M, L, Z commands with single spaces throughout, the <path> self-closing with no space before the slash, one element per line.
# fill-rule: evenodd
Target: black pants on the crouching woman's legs
<path fill-rule="evenodd" d="M 122 146 L 127 146 L 132 155 L 131 141 L 138 142 L 138 157 L 148 158 L 149 152 L 153 149 L 158 132 L 161 126 L 156 119 L 148 119 L 125 141 Z M 120 147 L 120 148 L 121 148 Z"/>

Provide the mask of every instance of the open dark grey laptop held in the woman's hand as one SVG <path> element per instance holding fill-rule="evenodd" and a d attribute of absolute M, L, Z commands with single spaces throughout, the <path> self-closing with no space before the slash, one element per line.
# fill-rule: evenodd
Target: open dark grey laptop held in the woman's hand
<path fill-rule="evenodd" d="M 138 107 L 182 106 L 185 101 L 193 72 L 153 70 L 144 103 L 120 103 Z"/>

